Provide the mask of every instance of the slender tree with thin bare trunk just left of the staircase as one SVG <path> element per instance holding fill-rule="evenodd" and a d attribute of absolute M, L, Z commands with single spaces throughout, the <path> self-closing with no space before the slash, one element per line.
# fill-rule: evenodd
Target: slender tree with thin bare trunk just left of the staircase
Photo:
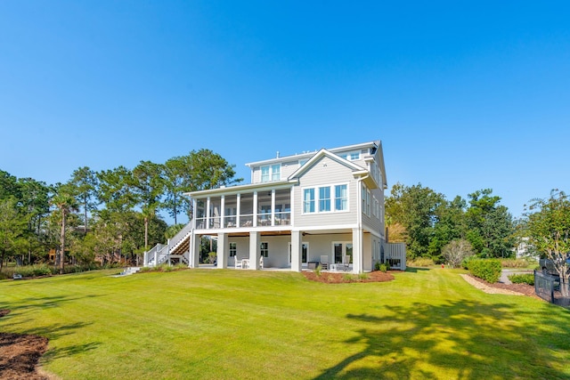
<path fill-rule="evenodd" d="M 141 161 L 133 169 L 133 187 L 144 217 L 144 250 L 149 243 L 149 219 L 156 215 L 161 205 L 160 198 L 164 193 L 165 181 L 163 166 L 151 161 Z"/>

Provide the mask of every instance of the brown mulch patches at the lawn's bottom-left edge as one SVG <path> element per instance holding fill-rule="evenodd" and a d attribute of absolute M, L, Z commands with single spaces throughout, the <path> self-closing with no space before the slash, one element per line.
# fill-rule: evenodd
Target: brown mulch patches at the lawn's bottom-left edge
<path fill-rule="evenodd" d="M 0 310 L 0 318 L 10 311 Z M 45 380 L 38 372 L 37 361 L 47 350 L 47 338 L 23 334 L 0 333 L 0 378 Z"/>

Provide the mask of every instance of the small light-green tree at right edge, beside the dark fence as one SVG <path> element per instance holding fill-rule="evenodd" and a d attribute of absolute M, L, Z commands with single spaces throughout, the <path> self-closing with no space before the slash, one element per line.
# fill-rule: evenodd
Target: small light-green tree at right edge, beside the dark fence
<path fill-rule="evenodd" d="M 570 197 L 561 190 L 551 190 L 550 198 L 531 201 L 525 213 L 525 229 L 530 243 L 552 262 L 560 277 L 560 292 L 568 298 L 570 266 Z"/>

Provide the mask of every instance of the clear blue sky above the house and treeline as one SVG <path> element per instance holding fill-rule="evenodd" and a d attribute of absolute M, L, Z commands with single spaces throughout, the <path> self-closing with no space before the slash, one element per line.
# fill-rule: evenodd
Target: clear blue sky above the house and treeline
<path fill-rule="evenodd" d="M 0 2 L 0 169 L 381 140 L 389 188 L 570 191 L 570 3 Z M 389 190 L 387 191 L 389 192 Z"/>

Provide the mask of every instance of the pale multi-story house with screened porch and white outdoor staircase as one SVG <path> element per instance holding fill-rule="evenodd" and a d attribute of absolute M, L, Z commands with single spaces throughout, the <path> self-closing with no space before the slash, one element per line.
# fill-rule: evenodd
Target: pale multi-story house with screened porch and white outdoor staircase
<path fill-rule="evenodd" d="M 247 166 L 250 184 L 189 193 L 191 222 L 166 246 L 145 253 L 144 264 L 196 268 L 200 238 L 209 236 L 217 239 L 217 268 L 301 271 L 329 263 L 330 270 L 362 273 L 388 261 L 405 269 L 403 245 L 386 242 L 380 141 L 278 153 Z"/>

